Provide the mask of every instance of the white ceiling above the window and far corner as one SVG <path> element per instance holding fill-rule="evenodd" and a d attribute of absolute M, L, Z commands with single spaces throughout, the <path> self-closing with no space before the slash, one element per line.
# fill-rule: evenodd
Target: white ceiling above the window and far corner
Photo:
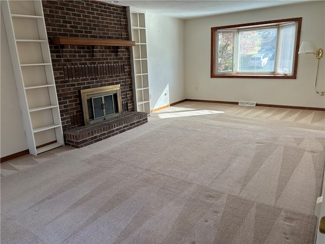
<path fill-rule="evenodd" d="M 111 0 L 102 0 L 111 3 Z M 128 1 L 118 0 L 114 3 L 120 6 L 131 6 L 146 10 L 149 13 L 166 15 L 180 19 L 199 18 L 211 15 L 234 13 L 253 9 L 269 8 L 274 6 L 284 6 L 296 3 L 314 2 L 308 0 L 262 0 L 262 1 Z"/>

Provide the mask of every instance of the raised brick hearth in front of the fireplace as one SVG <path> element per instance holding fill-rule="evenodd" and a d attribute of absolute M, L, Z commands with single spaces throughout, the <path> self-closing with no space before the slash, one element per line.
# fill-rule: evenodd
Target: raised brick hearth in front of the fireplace
<path fill-rule="evenodd" d="M 80 148 L 143 125 L 147 121 L 146 113 L 126 112 L 105 122 L 65 131 L 64 138 L 66 145 Z"/>

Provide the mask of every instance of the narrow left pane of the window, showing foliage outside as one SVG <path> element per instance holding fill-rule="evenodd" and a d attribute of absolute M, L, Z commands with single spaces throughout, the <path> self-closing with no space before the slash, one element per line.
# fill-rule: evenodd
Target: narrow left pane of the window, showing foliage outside
<path fill-rule="evenodd" d="M 217 32 L 218 34 L 218 72 L 233 72 L 234 33 Z"/>

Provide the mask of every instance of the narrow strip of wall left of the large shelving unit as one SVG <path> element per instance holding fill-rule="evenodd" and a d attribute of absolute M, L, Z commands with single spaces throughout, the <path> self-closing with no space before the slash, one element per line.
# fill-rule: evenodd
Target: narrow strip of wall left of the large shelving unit
<path fill-rule="evenodd" d="M 28 149 L 1 12 L 1 158 Z"/>

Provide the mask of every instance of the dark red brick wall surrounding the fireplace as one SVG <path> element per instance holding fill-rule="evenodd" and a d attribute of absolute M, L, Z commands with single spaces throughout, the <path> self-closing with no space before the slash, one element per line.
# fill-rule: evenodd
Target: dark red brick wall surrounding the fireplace
<path fill-rule="evenodd" d="M 126 9 L 97 1 L 42 1 L 55 37 L 129 40 Z M 121 85 L 123 112 L 134 111 L 128 47 L 51 45 L 63 130 L 83 124 L 80 89 Z"/>

